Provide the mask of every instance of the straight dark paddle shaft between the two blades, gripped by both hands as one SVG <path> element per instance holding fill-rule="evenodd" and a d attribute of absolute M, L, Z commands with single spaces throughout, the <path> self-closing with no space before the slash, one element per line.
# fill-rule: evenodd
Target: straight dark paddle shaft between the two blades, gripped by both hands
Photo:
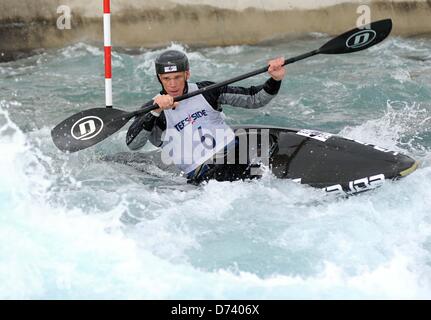
<path fill-rule="evenodd" d="M 286 60 L 284 60 L 283 66 L 285 66 L 286 64 L 294 63 L 296 61 L 303 60 L 303 59 L 315 56 L 315 55 L 317 55 L 319 53 L 320 53 L 320 49 L 317 49 L 317 50 L 313 50 L 313 51 L 301 54 L 299 56 L 296 56 L 296 57 L 293 57 L 293 58 L 290 58 L 290 59 L 286 59 Z M 207 87 L 201 88 L 199 90 L 196 90 L 196 91 L 184 94 L 182 96 L 175 97 L 174 101 L 175 102 L 179 102 L 179 101 L 182 101 L 182 100 L 189 99 L 191 97 L 200 95 L 202 93 L 209 92 L 209 91 L 212 91 L 212 90 L 215 90 L 215 89 L 227 86 L 227 85 L 229 85 L 231 83 L 238 82 L 238 81 L 241 81 L 241 80 L 244 80 L 244 79 L 247 79 L 247 78 L 251 78 L 251 77 L 256 76 L 258 74 L 267 72 L 268 68 L 269 68 L 269 66 L 266 66 L 266 67 L 263 67 L 263 68 L 260 68 L 260 69 L 248 72 L 248 73 L 244 73 L 244 74 L 239 75 L 239 76 L 237 76 L 235 78 L 225 80 L 223 82 L 214 83 L 212 85 L 209 85 Z M 159 108 L 159 106 L 157 104 L 153 104 L 153 105 L 150 105 L 150 106 L 143 107 L 142 109 L 137 110 L 135 112 L 132 112 L 129 116 L 130 116 L 130 118 L 132 118 L 134 116 L 140 115 L 142 113 L 150 112 L 151 110 L 154 110 L 154 109 L 157 109 L 157 108 Z"/>

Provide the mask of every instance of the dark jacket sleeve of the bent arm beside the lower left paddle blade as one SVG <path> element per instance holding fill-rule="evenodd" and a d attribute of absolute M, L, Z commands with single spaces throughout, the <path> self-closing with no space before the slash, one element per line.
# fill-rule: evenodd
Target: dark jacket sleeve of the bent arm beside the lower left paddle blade
<path fill-rule="evenodd" d="M 151 103 L 152 104 L 152 101 Z M 144 105 L 147 106 L 149 104 Z M 142 148 L 148 140 L 160 147 L 162 145 L 162 133 L 166 130 L 166 118 L 164 112 L 159 117 L 151 112 L 137 116 L 127 131 L 126 144 L 130 150 Z"/>

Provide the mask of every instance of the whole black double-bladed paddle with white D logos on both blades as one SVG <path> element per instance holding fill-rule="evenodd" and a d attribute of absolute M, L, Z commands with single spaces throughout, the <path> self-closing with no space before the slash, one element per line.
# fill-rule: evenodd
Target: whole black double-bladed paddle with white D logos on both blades
<path fill-rule="evenodd" d="M 355 28 L 328 41 L 317 50 L 285 60 L 284 65 L 294 63 L 317 54 L 342 54 L 367 49 L 383 41 L 391 32 L 391 29 L 391 19 L 379 20 L 362 28 Z M 179 102 L 267 71 L 268 66 L 223 82 L 212 84 L 191 93 L 175 97 L 174 101 Z M 134 112 L 107 108 L 84 110 L 58 124 L 54 129 L 52 129 L 51 136 L 54 144 L 61 151 L 76 152 L 91 147 L 106 139 L 120 130 L 131 118 L 157 108 L 158 106 L 156 104 L 152 104 L 152 101 L 150 101 L 141 107 L 141 109 Z"/>

